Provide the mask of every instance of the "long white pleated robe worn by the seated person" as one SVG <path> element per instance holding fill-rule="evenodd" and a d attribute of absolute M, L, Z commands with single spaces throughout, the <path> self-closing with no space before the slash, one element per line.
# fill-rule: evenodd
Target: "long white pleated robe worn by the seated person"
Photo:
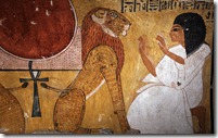
<path fill-rule="evenodd" d="M 149 74 L 131 103 L 127 118 L 142 134 L 192 134 L 191 108 L 203 97 L 202 70 L 210 49 L 203 43 L 187 57 L 179 45 L 169 49 L 184 59 L 184 65 L 165 55 L 156 66 L 157 76 Z"/>

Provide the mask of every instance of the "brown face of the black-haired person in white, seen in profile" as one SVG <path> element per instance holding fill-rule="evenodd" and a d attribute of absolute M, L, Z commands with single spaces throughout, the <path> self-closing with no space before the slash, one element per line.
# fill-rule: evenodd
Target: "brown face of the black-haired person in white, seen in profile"
<path fill-rule="evenodd" d="M 169 32 L 169 36 L 171 37 L 171 41 L 179 42 L 182 46 L 184 45 L 184 32 L 179 24 L 172 25 L 172 27 Z"/>

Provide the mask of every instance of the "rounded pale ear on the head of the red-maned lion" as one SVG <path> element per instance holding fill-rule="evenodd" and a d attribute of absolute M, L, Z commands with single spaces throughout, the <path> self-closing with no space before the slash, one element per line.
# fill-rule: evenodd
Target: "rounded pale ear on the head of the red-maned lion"
<path fill-rule="evenodd" d="M 92 21 L 98 24 L 103 24 L 105 22 L 106 11 L 105 10 L 98 10 L 95 13 L 92 14 Z"/>

